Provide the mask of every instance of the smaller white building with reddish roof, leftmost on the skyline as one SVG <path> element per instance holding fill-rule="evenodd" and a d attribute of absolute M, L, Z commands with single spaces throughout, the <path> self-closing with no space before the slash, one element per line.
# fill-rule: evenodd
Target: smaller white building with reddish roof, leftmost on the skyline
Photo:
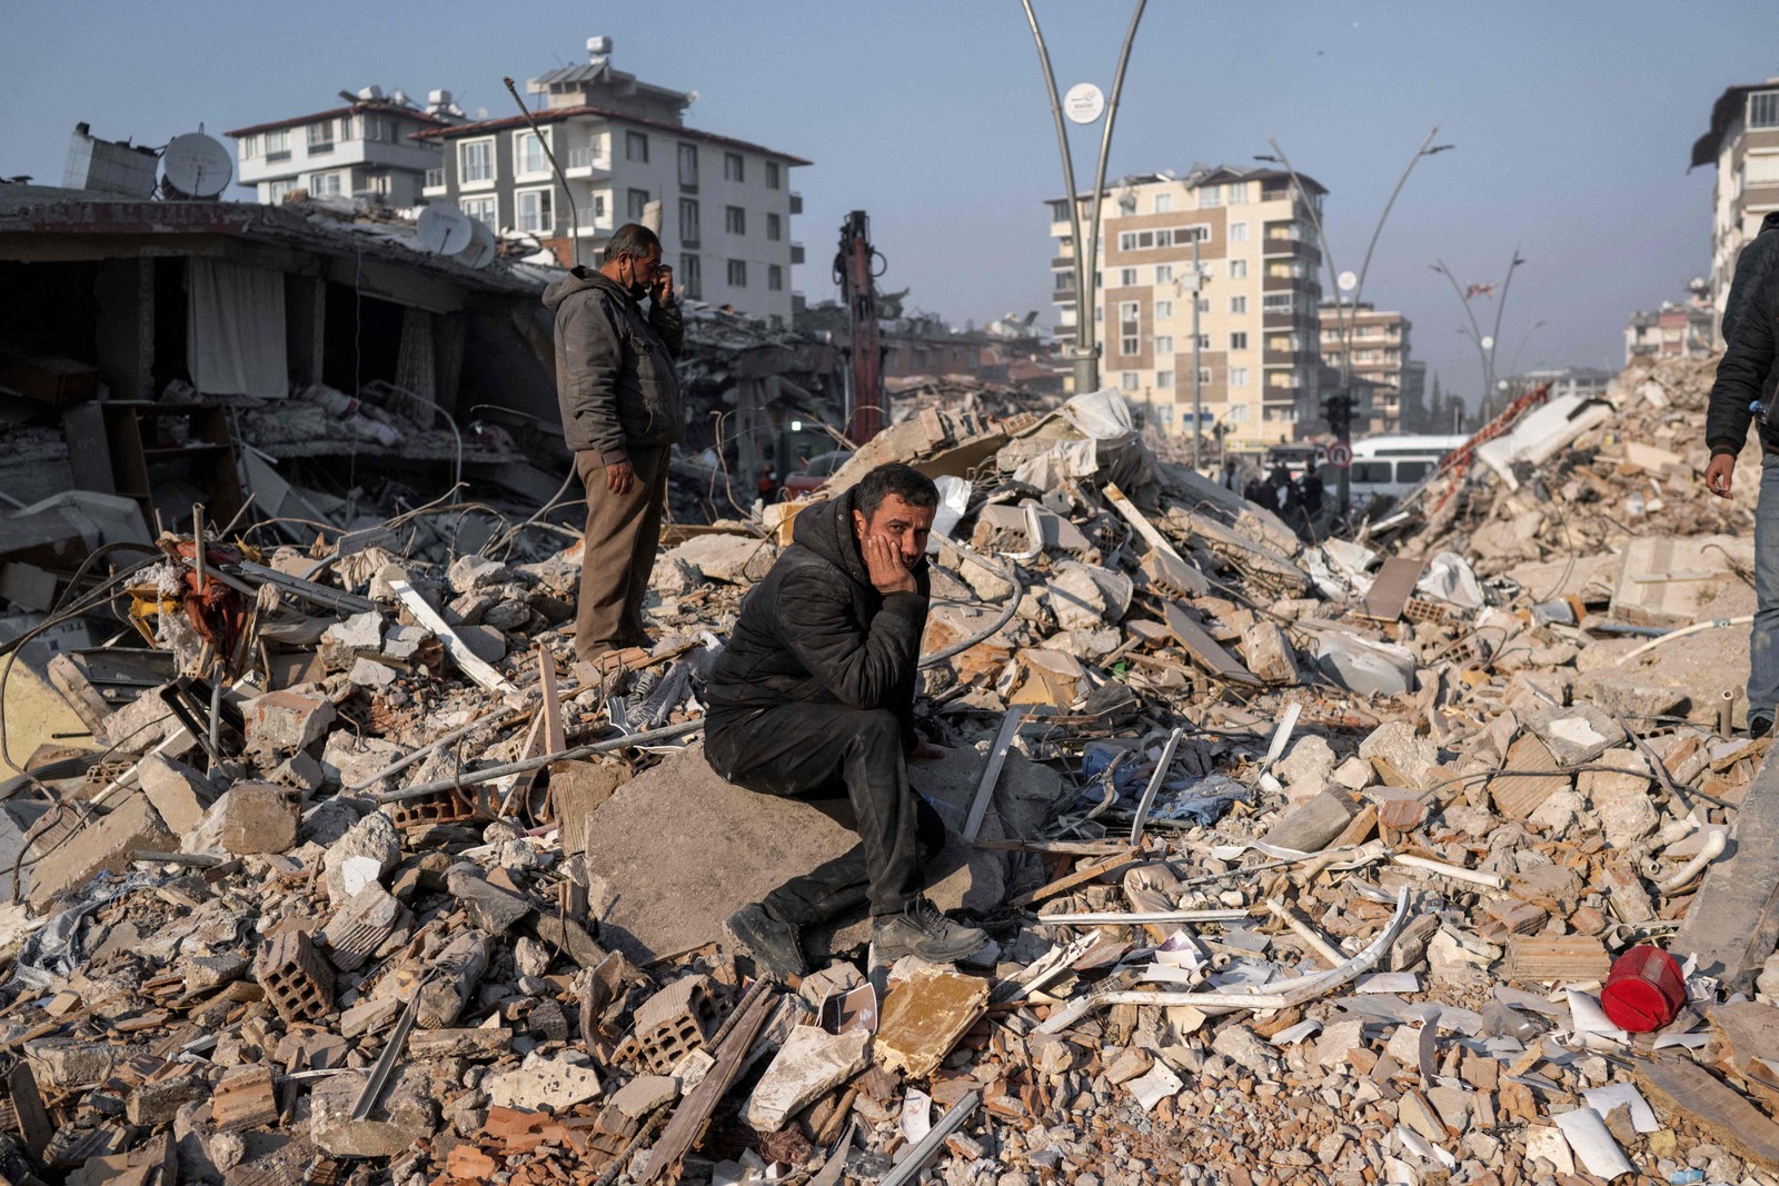
<path fill-rule="evenodd" d="M 251 185 L 256 199 L 270 204 L 294 190 L 390 206 L 418 203 L 427 171 L 445 155 L 436 140 L 413 135 L 463 119 L 450 91 L 434 91 L 425 107 L 400 91 L 384 98 L 382 87 L 365 87 L 356 98 L 342 91 L 340 98 L 349 100 L 345 107 L 228 132 L 238 155 L 237 183 Z"/>

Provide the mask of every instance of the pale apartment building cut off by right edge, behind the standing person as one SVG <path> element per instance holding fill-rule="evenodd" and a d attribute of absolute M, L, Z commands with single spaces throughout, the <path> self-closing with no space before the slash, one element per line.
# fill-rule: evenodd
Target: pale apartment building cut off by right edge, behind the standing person
<path fill-rule="evenodd" d="M 1779 210 L 1779 78 L 1729 87 L 1711 105 L 1711 128 L 1692 146 L 1692 167 L 1717 165 L 1711 201 L 1711 306 L 1722 322 L 1742 245 Z"/>

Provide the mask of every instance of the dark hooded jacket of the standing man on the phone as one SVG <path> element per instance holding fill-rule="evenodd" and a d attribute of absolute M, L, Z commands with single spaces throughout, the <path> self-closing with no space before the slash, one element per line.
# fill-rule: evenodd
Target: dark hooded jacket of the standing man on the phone
<path fill-rule="evenodd" d="M 550 284 L 544 304 L 557 317 L 557 402 L 568 446 L 612 464 L 630 450 L 678 441 L 680 304 L 655 302 L 642 317 L 623 284 L 584 267 Z"/>

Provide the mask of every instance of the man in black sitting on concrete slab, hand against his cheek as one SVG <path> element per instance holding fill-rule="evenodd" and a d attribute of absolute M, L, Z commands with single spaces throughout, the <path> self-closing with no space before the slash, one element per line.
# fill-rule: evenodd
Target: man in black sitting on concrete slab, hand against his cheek
<path fill-rule="evenodd" d="M 712 669 L 712 768 L 751 791 L 808 800 L 859 834 L 845 855 L 729 918 L 767 973 L 802 974 L 801 928 L 866 903 L 881 962 L 954 962 L 987 941 L 922 894 L 922 864 L 945 825 L 907 784 L 909 757 L 938 756 L 914 731 L 938 505 L 932 478 L 890 462 L 801 512 Z"/>

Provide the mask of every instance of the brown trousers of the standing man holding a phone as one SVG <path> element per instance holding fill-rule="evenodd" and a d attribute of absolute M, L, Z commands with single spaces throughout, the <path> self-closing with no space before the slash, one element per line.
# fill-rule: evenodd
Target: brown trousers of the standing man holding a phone
<path fill-rule="evenodd" d="M 605 462 L 598 452 L 575 453 L 575 469 L 587 487 L 587 535 L 580 557 L 580 597 L 575 606 L 575 654 L 584 660 L 607 651 L 648 645 L 642 597 L 655 569 L 667 501 L 667 446 L 630 455 L 637 480 L 630 493 L 605 489 Z"/>

